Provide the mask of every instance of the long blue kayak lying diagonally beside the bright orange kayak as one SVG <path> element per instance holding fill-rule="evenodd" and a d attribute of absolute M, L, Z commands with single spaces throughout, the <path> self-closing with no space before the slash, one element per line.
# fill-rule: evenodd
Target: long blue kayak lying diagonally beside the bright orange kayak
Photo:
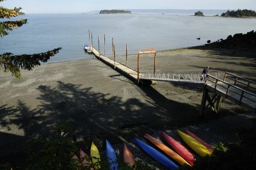
<path fill-rule="evenodd" d="M 157 151 L 155 148 L 152 148 L 148 144 L 143 143 L 139 139 L 134 138 L 133 141 L 134 141 L 134 143 L 138 144 L 138 146 L 143 151 L 148 153 L 148 155 L 150 155 L 151 157 L 156 159 L 158 162 L 163 164 L 163 166 L 167 167 L 168 169 L 177 169 L 178 168 L 178 166 L 172 160 L 170 160 L 170 158 L 166 157 L 160 151 Z"/>

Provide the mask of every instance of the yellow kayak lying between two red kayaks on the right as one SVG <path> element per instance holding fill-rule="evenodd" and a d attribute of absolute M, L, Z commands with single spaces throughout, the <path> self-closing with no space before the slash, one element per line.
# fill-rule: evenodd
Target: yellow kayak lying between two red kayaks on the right
<path fill-rule="evenodd" d="M 180 130 L 177 130 L 177 133 L 179 134 L 181 139 L 201 157 L 205 157 L 205 155 L 211 155 L 211 151 L 209 151 L 203 144 L 198 142 L 195 138 L 191 137 L 190 135 L 184 134 Z"/>

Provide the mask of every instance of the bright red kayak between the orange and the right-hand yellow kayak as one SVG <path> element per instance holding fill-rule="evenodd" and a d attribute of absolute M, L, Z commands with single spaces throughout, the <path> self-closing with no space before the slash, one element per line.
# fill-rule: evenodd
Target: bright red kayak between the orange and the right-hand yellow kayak
<path fill-rule="evenodd" d="M 182 144 L 180 144 L 178 141 L 170 137 L 170 135 L 165 134 L 164 132 L 161 132 L 161 137 L 163 137 L 164 140 L 173 148 L 173 150 L 177 151 L 177 153 L 179 153 L 179 155 L 184 158 L 191 166 L 194 165 L 193 162 L 196 160 L 194 155 Z"/>

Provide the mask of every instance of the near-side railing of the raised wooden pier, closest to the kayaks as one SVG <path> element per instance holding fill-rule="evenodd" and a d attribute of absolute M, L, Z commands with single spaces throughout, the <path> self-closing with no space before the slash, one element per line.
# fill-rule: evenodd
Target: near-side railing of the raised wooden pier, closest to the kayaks
<path fill-rule="evenodd" d="M 211 77 L 212 79 L 216 79 L 216 81 L 209 80 L 209 79 L 208 79 L 209 77 Z M 244 93 L 248 93 L 248 95 L 251 95 L 252 97 L 256 97 L 256 94 L 254 94 L 254 93 L 252 93 L 252 92 L 250 92 L 250 91 L 247 91 L 247 90 L 245 90 L 245 89 L 242 89 L 242 88 L 239 88 L 239 87 L 234 86 L 234 85 L 232 85 L 232 84 L 229 84 L 228 82 L 222 81 L 221 79 L 218 79 L 217 77 L 213 77 L 212 75 L 209 75 L 209 74 L 207 74 L 207 81 L 210 81 L 210 82 L 212 82 L 212 83 L 215 84 L 215 86 L 214 86 L 214 91 L 216 91 L 217 84 L 218 84 L 219 81 L 222 82 L 222 83 L 224 83 L 224 84 L 227 84 L 228 88 L 225 87 L 225 86 L 221 86 L 221 84 L 218 84 L 218 86 L 221 86 L 221 87 L 227 89 L 227 92 L 226 92 L 226 94 L 225 94 L 226 97 L 228 97 L 228 92 L 229 92 L 229 91 L 232 91 L 233 93 L 236 93 L 237 95 L 241 95 L 240 100 L 239 100 L 239 104 L 241 104 L 243 98 L 246 98 L 246 99 L 251 100 L 252 102 L 255 102 L 255 103 L 256 103 L 256 100 L 253 100 L 252 98 L 248 98 L 248 97 L 244 96 Z M 205 84 L 207 84 L 207 81 L 205 81 Z M 239 90 L 241 91 L 241 94 L 239 94 L 239 93 L 237 93 L 236 91 L 230 89 L 230 87 L 235 88 L 235 89 L 239 89 Z"/>

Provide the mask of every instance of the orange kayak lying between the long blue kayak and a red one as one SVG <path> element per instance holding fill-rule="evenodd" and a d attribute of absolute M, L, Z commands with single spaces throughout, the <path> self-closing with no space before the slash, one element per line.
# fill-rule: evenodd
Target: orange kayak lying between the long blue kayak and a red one
<path fill-rule="evenodd" d="M 180 157 L 179 154 L 177 154 L 172 149 L 168 148 L 165 144 L 158 141 L 156 138 L 152 137 L 151 135 L 145 134 L 144 137 L 148 139 L 151 143 L 157 146 L 160 150 L 164 151 L 169 157 L 173 158 L 176 162 L 178 162 L 180 165 L 188 164 L 191 166 L 184 158 Z"/>

